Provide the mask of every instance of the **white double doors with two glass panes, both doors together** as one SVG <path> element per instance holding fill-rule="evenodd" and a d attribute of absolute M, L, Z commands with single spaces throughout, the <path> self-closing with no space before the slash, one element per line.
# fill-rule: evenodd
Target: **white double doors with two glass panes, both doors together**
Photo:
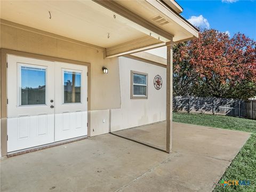
<path fill-rule="evenodd" d="M 7 151 L 87 135 L 87 66 L 7 55 Z"/>

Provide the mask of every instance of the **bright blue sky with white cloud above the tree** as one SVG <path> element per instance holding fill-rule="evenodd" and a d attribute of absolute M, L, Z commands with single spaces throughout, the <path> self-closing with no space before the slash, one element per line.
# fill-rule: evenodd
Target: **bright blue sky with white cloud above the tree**
<path fill-rule="evenodd" d="M 256 41 L 256 1 L 182 1 L 181 15 L 194 25 L 209 27 L 219 31 L 244 33 Z"/>

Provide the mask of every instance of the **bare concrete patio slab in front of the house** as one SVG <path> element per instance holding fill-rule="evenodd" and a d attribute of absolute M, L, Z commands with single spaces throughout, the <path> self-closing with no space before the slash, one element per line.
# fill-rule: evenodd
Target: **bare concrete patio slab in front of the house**
<path fill-rule="evenodd" d="M 164 147 L 165 123 L 118 134 Z M 211 191 L 249 133 L 174 123 L 173 153 L 105 134 L 1 159 L 1 191 Z"/>

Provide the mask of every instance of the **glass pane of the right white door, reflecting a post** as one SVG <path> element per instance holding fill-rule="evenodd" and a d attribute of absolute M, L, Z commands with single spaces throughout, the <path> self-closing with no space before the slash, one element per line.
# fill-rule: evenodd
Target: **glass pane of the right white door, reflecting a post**
<path fill-rule="evenodd" d="M 81 73 L 64 71 L 64 103 L 81 102 Z"/>

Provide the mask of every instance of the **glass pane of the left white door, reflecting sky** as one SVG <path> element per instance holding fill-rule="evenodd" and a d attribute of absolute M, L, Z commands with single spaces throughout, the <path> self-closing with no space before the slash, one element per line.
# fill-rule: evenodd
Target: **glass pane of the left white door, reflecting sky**
<path fill-rule="evenodd" d="M 45 104 L 45 69 L 21 66 L 21 105 Z"/>

